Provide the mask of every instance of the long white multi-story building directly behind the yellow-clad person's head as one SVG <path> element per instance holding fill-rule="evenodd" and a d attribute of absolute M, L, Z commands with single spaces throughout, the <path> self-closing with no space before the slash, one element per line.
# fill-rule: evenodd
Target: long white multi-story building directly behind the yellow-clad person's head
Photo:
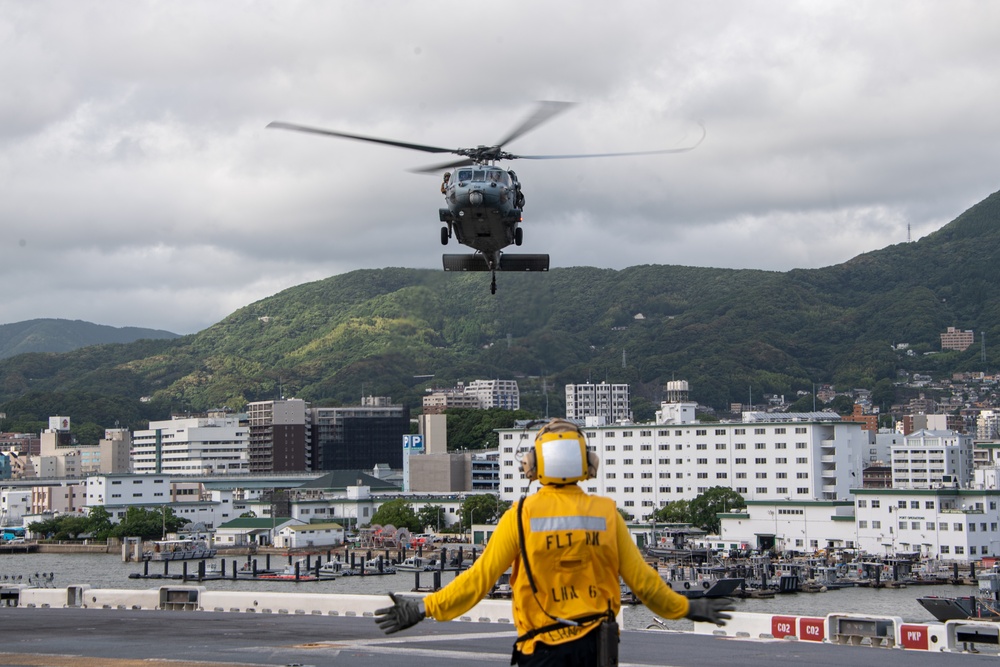
<path fill-rule="evenodd" d="M 601 465 L 597 479 L 581 486 L 613 498 L 637 520 L 715 486 L 747 500 L 849 500 L 869 441 L 860 423 L 834 413 L 745 413 L 739 423 L 616 424 L 584 433 Z M 519 450 L 534 437 L 534 431 L 500 430 L 504 500 L 528 490 Z"/>

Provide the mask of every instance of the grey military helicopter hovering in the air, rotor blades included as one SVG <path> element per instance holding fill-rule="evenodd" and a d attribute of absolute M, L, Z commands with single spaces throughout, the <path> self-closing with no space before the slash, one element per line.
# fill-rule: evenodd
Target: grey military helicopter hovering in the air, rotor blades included
<path fill-rule="evenodd" d="M 476 146 L 475 148 L 424 146 L 281 121 L 269 123 L 268 127 L 340 137 L 342 139 L 368 141 L 387 146 L 408 148 L 424 153 L 452 153 L 461 156 L 461 160 L 414 169 L 413 171 L 429 174 L 445 170 L 444 179 L 441 183 L 441 193 L 444 195 L 447 208 L 439 210 L 439 218 L 444 223 L 444 226 L 441 228 L 441 244 L 448 245 L 449 239 L 455 237 L 459 243 L 476 251 L 472 254 L 444 255 L 442 257 L 444 270 L 489 271 L 492 274 L 490 292 L 496 294 L 497 271 L 549 270 L 548 255 L 503 252 L 503 249 L 511 244 L 520 246 L 524 241 L 524 230 L 521 228 L 524 193 L 521 191 L 521 183 L 514 170 L 497 166 L 498 162 L 505 160 L 563 160 L 571 158 L 684 153 L 693 150 L 705 138 L 705 128 L 702 127 L 701 138 L 693 145 L 684 148 L 628 153 L 573 155 L 516 155 L 508 153 L 503 149 L 506 144 L 535 129 L 570 106 L 572 106 L 571 102 L 539 102 L 534 111 L 503 139 L 492 146 Z"/>

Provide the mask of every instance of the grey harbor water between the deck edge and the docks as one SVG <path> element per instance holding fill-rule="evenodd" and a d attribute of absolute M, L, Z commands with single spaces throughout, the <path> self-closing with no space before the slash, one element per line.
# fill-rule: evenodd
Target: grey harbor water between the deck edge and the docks
<path fill-rule="evenodd" d="M 315 562 L 315 556 L 313 562 Z M 322 557 L 325 560 L 325 556 Z M 264 559 L 257 557 L 263 568 Z M 243 563 L 246 557 L 226 558 L 227 572 L 232 572 L 233 561 Z M 208 562 L 218 564 L 219 559 Z M 198 561 L 187 561 L 188 572 L 193 575 L 198 571 Z M 288 564 L 286 556 L 271 556 L 273 569 Z M 169 579 L 138 579 L 130 578 L 130 574 L 141 574 L 142 563 L 122 562 L 121 556 L 109 554 L 3 554 L 0 555 L 0 584 L 27 583 L 29 578 L 45 581 L 51 575 L 51 586 L 65 588 L 72 585 L 89 585 L 92 588 L 110 589 L 152 589 L 163 585 L 180 585 L 183 582 Z M 169 565 L 170 574 L 180 574 L 183 562 L 174 561 Z M 163 563 L 149 563 L 149 573 L 162 573 Z M 453 572 L 442 575 L 442 583 L 447 584 L 453 578 Z M 20 578 L 20 579 L 18 579 Z M 409 591 L 413 589 L 416 579 L 413 573 L 399 572 L 386 575 L 349 576 L 324 581 L 262 581 L 214 579 L 200 584 L 188 582 L 187 585 L 200 585 L 208 590 L 227 591 L 295 591 L 297 593 L 353 593 L 365 595 L 384 595 L 390 591 Z M 432 573 L 420 575 L 422 587 L 430 586 Z M 742 612 L 764 614 L 789 614 L 796 616 L 825 616 L 835 612 L 855 614 L 870 614 L 876 616 L 897 616 L 908 622 L 934 621 L 920 604 L 918 597 L 939 596 L 954 597 L 973 595 L 972 586 L 952 586 L 935 584 L 928 586 L 910 586 L 906 588 L 840 588 L 821 593 L 792 593 L 776 595 L 773 598 L 737 599 L 736 609 Z M 653 614 L 642 605 L 626 605 L 624 610 L 624 626 L 629 629 L 641 629 L 654 622 Z M 687 621 L 669 621 L 667 627 L 684 630 L 690 627 Z"/>

